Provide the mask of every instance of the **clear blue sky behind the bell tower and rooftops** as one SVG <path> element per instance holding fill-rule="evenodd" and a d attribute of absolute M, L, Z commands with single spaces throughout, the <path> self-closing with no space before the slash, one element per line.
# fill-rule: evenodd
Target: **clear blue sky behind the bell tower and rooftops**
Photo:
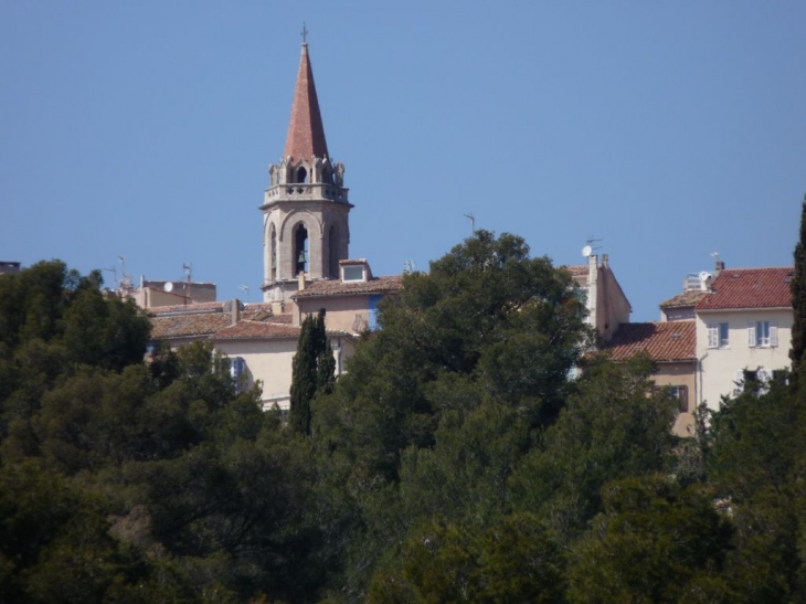
<path fill-rule="evenodd" d="M 654 320 L 687 273 L 792 263 L 806 2 L 0 0 L 0 259 L 259 299 L 303 21 L 352 257 L 478 227 L 607 253 Z M 105 273 L 112 284 L 113 273 Z"/>

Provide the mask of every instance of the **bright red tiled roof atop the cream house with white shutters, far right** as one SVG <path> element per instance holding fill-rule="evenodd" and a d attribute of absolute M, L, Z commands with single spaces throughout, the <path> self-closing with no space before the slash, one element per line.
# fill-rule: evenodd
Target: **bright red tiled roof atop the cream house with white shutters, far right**
<path fill-rule="evenodd" d="M 791 284 L 794 269 L 725 268 L 711 284 L 712 293 L 697 303 L 696 309 L 781 308 L 792 306 Z"/>

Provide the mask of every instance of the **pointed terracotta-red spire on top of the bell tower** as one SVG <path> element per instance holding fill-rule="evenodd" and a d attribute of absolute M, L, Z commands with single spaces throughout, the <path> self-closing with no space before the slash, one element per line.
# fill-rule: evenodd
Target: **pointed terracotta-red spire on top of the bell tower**
<path fill-rule="evenodd" d="M 297 88 L 294 92 L 291 119 L 288 124 L 288 137 L 283 156 L 291 156 L 295 162 L 300 159 L 310 160 L 312 156 L 330 157 L 325 141 L 325 127 L 319 113 L 307 42 L 303 43 L 303 56 L 299 59 Z"/>

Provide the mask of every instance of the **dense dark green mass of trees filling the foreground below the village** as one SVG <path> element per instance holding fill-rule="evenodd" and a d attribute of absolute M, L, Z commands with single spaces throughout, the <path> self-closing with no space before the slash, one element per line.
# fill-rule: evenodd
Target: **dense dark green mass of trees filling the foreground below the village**
<path fill-rule="evenodd" d="M 0 275 L 2 602 L 806 598 L 803 386 L 676 438 L 651 363 L 591 352 L 519 237 L 407 275 L 335 384 L 309 318 L 289 426 L 208 345 L 144 362 L 99 285 Z"/>

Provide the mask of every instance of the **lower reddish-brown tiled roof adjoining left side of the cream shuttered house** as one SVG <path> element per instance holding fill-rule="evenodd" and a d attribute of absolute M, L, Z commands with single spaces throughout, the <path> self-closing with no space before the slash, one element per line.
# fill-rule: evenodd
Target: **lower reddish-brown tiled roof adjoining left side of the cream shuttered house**
<path fill-rule="evenodd" d="M 693 361 L 694 321 L 623 324 L 604 349 L 614 361 L 626 361 L 640 351 L 657 362 Z"/>

